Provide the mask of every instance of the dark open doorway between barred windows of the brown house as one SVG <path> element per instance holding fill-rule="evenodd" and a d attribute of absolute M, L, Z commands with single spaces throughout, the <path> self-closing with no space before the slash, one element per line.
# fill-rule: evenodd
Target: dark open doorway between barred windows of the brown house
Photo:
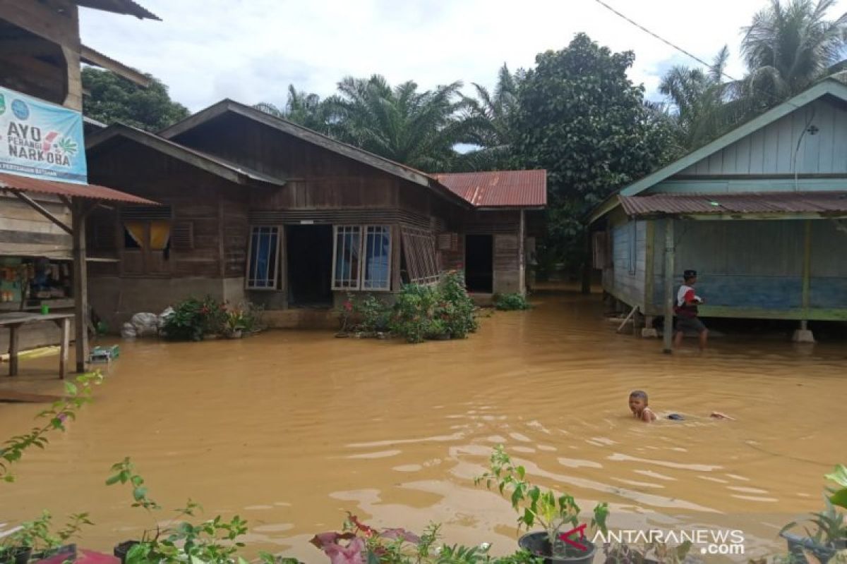
<path fill-rule="evenodd" d="M 288 305 L 293 308 L 332 305 L 332 226 L 285 227 L 288 257 Z"/>

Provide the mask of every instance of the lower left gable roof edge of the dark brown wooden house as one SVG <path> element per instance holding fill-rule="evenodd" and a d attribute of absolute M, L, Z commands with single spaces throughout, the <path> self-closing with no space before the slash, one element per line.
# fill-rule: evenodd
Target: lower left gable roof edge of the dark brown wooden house
<path fill-rule="evenodd" d="M 225 161 L 217 156 L 207 155 L 200 151 L 195 151 L 171 140 L 166 140 L 156 134 L 149 133 L 143 129 L 134 128 L 125 123 L 113 123 L 106 129 L 101 129 L 94 134 L 86 137 L 86 151 L 91 151 L 97 147 L 104 145 L 108 140 L 113 140 L 116 137 L 124 137 L 146 145 L 155 151 L 172 156 L 182 162 L 186 162 L 193 167 L 202 168 L 207 172 L 216 174 L 219 177 L 226 178 L 234 183 L 243 184 L 247 180 L 258 180 L 259 182 L 276 184 L 277 186 L 285 185 L 285 180 L 274 178 L 263 174 L 262 172 L 254 171 L 250 168 L 241 167 L 233 162 Z"/>

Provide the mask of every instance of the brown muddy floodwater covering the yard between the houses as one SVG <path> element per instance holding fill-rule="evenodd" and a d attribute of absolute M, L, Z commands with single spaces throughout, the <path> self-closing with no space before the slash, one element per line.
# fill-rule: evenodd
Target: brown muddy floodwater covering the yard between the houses
<path fill-rule="evenodd" d="M 135 538 L 152 519 L 103 485 L 130 456 L 163 506 L 191 497 L 208 515 L 246 517 L 252 554 L 324 561 L 307 539 L 345 510 L 413 530 L 438 521 L 451 543 L 488 540 L 503 553 L 511 508 L 473 486 L 499 443 L 584 507 L 608 501 L 613 524 L 741 528 L 748 556 L 781 548 L 778 528 L 821 505 L 822 474 L 847 461 L 843 344 L 724 339 L 667 357 L 655 340 L 615 335 L 597 297 L 535 301 L 460 342 L 273 331 L 121 343 L 96 402 L 0 485 L 0 521 L 88 511 L 87 545 Z M 24 361 L 0 385 L 57 392 L 54 362 Z M 634 388 L 657 412 L 689 418 L 635 422 Z M 0 404 L 2 435 L 27 429 L 36 410 Z M 705 419 L 711 410 L 738 420 Z"/>

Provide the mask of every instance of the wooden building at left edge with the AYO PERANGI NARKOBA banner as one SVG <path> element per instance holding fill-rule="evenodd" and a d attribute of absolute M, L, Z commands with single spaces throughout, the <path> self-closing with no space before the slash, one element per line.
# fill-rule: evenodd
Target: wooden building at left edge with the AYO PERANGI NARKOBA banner
<path fill-rule="evenodd" d="M 84 174 L 72 180 L 41 176 L 42 171 L 19 167 L 7 158 L 11 156 L 16 131 L 36 130 L 34 113 L 30 115 L 29 109 L 32 101 L 39 107 L 54 105 L 53 112 L 64 119 L 75 116 L 81 120 L 80 63 L 108 68 L 142 86 L 149 84 L 147 76 L 81 43 L 80 8 L 158 19 L 132 0 L 0 0 L 0 315 L 7 318 L 12 313 L 38 311 L 42 306 L 53 311 L 71 311 L 74 307 L 84 311 L 84 299 L 80 302 L 76 291 L 80 283 L 74 278 L 84 279 L 85 269 L 74 271 L 74 262 L 76 257 L 85 256 L 85 250 L 74 243 L 73 201 L 80 203 L 77 211 L 82 213 L 96 201 L 138 200 L 88 186 Z M 10 120 L 15 104 L 19 121 L 13 126 Z M 95 122 L 90 120 L 85 123 L 86 131 L 92 124 Z M 19 129 L 10 134 L 9 128 L 13 127 Z M 80 128 L 80 134 L 81 131 Z M 81 140 L 73 145 L 74 151 L 77 145 L 82 145 Z M 57 153 L 42 149 L 40 154 Z M 85 156 L 81 152 L 79 155 L 84 165 Z M 33 271 L 44 269 L 50 271 L 53 286 L 30 292 Z M 81 316 L 80 323 L 85 326 Z M 0 331 L 3 350 L 8 347 L 11 334 L 19 348 L 51 344 L 59 338 L 53 324 L 27 324 L 20 331 Z M 84 343 L 80 349 L 85 349 Z M 84 355 L 81 353 L 78 358 Z"/>

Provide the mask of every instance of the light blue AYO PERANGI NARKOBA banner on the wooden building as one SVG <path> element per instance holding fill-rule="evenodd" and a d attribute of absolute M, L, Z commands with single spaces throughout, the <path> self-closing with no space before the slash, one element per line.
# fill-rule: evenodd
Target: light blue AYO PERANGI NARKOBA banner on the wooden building
<path fill-rule="evenodd" d="M 0 172 L 87 183 L 82 114 L 0 86 Z"/>

